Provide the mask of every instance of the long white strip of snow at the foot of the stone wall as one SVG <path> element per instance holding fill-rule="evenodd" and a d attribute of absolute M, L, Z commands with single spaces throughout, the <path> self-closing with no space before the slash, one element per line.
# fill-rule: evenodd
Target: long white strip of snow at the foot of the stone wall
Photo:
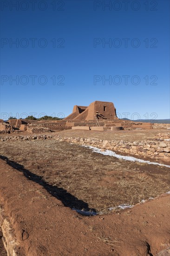
<path fill-rule="evenodd" d="M 141 163 L 148 163 L 148 164 L 155 164 L 155 165 L 160 165 L 160 166 L 165 166 L 165 167 L 169 167 L 169 168 L 170 168 L 170 165 L 166 165 L 166 164 L 162 164 L 162 163 L 157 163 L 157 162 L 150 162 L 150 161 L 146 161 L 146 160 L 143 160 L 143 159 L 139 159 L 139 158 L 136 158 L 136 157 L 133 157 L 133 156 L 118 155 L 118 154 L 116 154 L 114 151 L 107 150 L 107 149 L 106 149 L 105 151 L 101 151 L 100 148 L 95 148 L 95 147 L 92 147 L 92 146 L 82 145 L 81 147 L 90 148 L 90 149 L 92 149 L 92 151 L 95 152 L 95 153 L 99 153 L 99 154 L 102 154 L 102 155 L 114 156 L 114 157 L 116 157 L 116 158 L 123 159 L 123 160 L 125 160 L 125 161 L 141 162 Z"/>

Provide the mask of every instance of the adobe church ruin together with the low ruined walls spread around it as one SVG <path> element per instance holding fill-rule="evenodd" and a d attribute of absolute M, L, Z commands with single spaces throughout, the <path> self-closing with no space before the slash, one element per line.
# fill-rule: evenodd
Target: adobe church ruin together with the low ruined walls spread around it
<path fill-rule="evenodd" d="M 118 129 L 152 129 L 153 123 L 118 119 L 112 102 L 94 101 L 88 107 L 75 105 L 72 114 L 63 120 L 0 120 L 0 134 L 45 133 L 65 129 L 116 131 Z"/>

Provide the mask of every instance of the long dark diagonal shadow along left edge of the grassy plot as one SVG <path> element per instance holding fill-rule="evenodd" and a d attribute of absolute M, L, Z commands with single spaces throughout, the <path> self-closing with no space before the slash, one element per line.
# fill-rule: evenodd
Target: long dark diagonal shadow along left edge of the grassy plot
<path fill-rule="evenodd" d="M 9 160 L 6 156 L 0 155 L 0 159 L 7 161 L 7 164 L 15 168 L 16 170 L 24 173 L 27 179 L 38 183 L 43 186 L 51 195 L 59 199 L 66 207 L 75 208 L 78 210 L 85 209 L 86 211 L 96 212 L 95 209 L 89 208 L 88 203 L 79 200 L 74 195 L 68 193 L 65 189 L 52 186 L 42 179 L 41 176 L 32 173 L 31 171 L 24 168 L 23 165 Z"/>

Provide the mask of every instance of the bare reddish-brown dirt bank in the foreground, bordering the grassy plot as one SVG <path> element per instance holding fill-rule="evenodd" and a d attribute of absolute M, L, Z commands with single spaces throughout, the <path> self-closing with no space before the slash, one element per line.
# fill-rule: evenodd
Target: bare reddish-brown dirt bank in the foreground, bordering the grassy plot
<path fill-rule="evenodd" d="M 156 256 L 163 249 L 166 254 L 159 255 L 169 255 L 170 195 L 85 217 L 50 194 L 38 176 L 9 161 L 0 160 L 0 166 L 1 204 L 18 255 Z"/>

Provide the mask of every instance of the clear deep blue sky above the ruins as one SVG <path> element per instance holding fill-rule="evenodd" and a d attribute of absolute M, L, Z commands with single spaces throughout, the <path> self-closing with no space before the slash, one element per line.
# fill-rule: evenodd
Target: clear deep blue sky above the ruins
<path fill-rule="evenodd" d="M 122 118 L 170 118 L 169 0 L 16 2 L 1 1 L 1 113 L 112 101 Z"/>

